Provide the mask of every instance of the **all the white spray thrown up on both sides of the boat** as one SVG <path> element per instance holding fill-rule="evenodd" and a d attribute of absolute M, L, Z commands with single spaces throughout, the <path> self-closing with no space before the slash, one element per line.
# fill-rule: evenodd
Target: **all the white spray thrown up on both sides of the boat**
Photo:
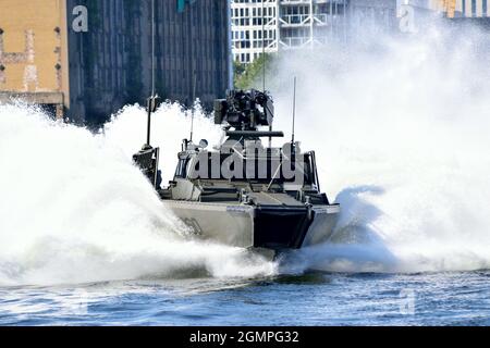
<path fill-rule="evenodd" d="M 432 28 L 376 46 L 287 55 L 298 77 L 296 137 L 316 149 L 322 189 L 342 204 L 328 244 L 283 272 L 424 272 L 490 266 L 488 37 Z M 291 82 L 291 84 L 287 84 Z M 277 88 L 277 128 L 291 129 L 292 88 Z M 151 138 L 172 177 L 189 114 L 164 104 Z M 26 105 L 0 105 L 0 284 L 142 276 L 257 276 L 277 264 L 189 240 L 139 171 L 145 111 L 126 107 L 93 135 Z M 219 129 L 196 111 L 196 136 Z"/>

